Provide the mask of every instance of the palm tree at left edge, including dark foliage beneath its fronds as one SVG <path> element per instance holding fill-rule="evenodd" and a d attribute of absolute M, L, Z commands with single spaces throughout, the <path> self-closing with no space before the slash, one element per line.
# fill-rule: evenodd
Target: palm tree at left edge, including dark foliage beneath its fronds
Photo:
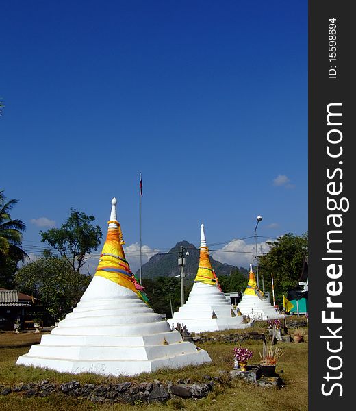
<path fill-rule="evenodd" d="M 10 216 L 16 203 L 18 199 L 7 201 L 3 190 L 0 190 L 0 286 L 3 287 L 12 286 L 18 262 L 29 258 L 21 248 L 26 226 L 23 221 L 13 220 Z"/>

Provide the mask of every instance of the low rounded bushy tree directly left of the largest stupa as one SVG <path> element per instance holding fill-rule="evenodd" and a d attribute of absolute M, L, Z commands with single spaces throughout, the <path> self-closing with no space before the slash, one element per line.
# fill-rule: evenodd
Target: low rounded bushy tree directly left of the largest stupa
<path fill-rule="evenodd" d="M 63 257 L 48 256 L 23 266 L 14 279 L 19 291 L 46 302 L 58 320 L 73 310 L 92 277 L 74 271 Z"/>

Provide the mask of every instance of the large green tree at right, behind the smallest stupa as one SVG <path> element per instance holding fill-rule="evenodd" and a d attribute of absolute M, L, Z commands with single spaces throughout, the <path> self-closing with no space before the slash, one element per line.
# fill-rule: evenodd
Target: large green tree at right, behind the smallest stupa
<path fill-rule="evenodd" d="M 259 278 L 263 273 L 266 290 L 272 294 L 271 273 L 273 273 L 275 299 L 283 303 L 283 295 L 298 286 L 303 269 L 304 256 L 308 254 L 308 234 L 301 236 L 285 234 L 278 240 L 268 242 L 270 251 L 259 257 Z"/>

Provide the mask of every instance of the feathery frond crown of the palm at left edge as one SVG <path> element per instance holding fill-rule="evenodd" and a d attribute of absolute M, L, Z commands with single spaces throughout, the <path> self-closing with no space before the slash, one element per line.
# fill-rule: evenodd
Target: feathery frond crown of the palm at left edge
<path fill-rule="evenodd" d="M 0 260 L 11 256 L 16 262 L 29 258 L 27 253 L 21 249 L 22 232 L 26 226 L 21 220 L 12 220 L 10 210 L 18 203 L 18 199 L 6 201 L 3 190 L 0 190 Z"/>

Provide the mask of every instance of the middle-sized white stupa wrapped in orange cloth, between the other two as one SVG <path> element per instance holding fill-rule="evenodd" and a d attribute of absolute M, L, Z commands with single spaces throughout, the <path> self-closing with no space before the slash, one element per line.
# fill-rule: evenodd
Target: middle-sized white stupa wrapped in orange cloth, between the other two
<path fill-rule="evenodd" d="M 199 268 L 190 295 L 173 319 L 168 323 L 185 325 L 188 332 L 218 331 L 221 329 L 246 328 L 251 324 L 243 323 L 243 317 L 233 309 L 218 284 L 218 278 L 209 260 L 209 249 L 205 239 L 204 225 L 201 225 L 201 247 Z"/>

